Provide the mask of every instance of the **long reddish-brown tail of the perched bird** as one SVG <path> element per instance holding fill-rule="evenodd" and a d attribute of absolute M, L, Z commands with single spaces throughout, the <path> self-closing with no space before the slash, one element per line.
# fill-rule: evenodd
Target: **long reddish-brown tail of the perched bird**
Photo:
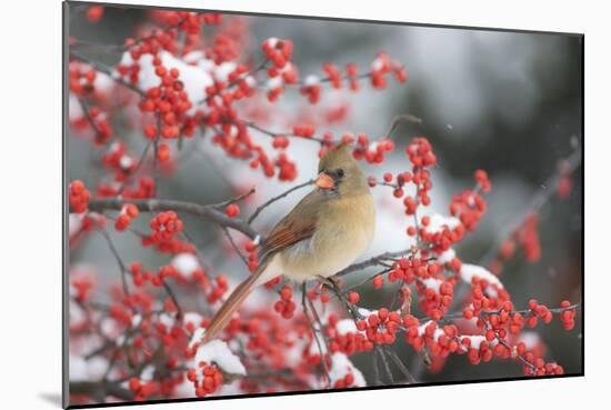
<path fill-rule="evenodd" d="M 252 289 L 261 284 L 262 281 L 266 281 L 262 274 L 266 271 L 270 259 L 271 258 L 266 258 L 266 260 L 261 261 L 257 270 L 244 279 L 243 282 L 238 284 L 233 292 L 231 292 L 229 298 L 224 301 L 221 309 L 219 309 L 217 314 L 214 314 L 210 321 L 210 324 L 206 329 L 206 333 L 203 333 L 202 338 L 203 343 L 214 339 L 217 334 L 224 329 L 229 320 L 231 320 L 231 317 L 233 317 L 236 310 L 238 310 L 238 308 L 242 304 Z"/>

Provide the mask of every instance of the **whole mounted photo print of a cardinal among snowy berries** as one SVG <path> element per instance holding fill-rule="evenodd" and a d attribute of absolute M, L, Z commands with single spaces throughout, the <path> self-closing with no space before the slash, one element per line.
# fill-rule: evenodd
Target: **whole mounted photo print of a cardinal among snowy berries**
<path fill-rule="evenodd" d="M 583 374 L 582 34 L 69 1 L 63 58 L 66 407 Z"/>

